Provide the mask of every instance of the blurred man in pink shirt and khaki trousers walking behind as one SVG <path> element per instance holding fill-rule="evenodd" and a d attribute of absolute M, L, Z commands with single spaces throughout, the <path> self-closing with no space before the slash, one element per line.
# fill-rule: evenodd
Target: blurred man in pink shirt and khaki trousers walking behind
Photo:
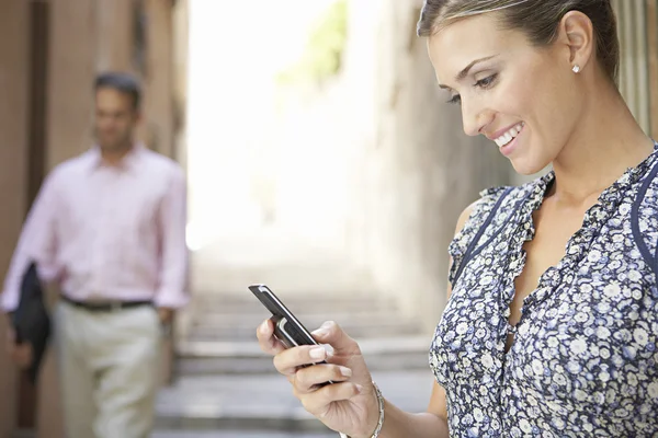
<path fill-rule="evenodd" d="M 141 92 L 124 73 L 94 83 L 97 145 L 46 177 L 0 297 L 11 313 L 32 261 L 61 291 L 54 311 L 68 438 L 145 438 L 154 423 L 162 326 L 188 302 L 186 185 L 135 141 Z M 26 366 L 31 347 L 10 333 Z"/>

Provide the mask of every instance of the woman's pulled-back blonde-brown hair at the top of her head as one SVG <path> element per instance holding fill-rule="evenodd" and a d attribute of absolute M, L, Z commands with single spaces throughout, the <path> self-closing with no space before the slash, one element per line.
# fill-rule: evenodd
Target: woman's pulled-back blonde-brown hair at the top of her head
<path fill-rule="evenodd" d="M 426 0 L 418 36 L 430 36 L 455 21 L 495 12 L 503 28 L 521 31 L 532 44 L 545 46 L 555 41 L 559 23 L 569 11 L 580 11 L 591 20 L 597 58 L 616 83 L 620 42 L 610 0 Z"/>

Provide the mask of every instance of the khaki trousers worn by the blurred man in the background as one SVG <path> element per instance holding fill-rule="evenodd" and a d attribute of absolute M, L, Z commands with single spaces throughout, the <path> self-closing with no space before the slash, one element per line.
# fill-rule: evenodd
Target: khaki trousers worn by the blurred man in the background
<path fill-rule="evenodd" d="M 160 381 L 157 311 L 90 312 L 59 302 L 55 338 L 67 438 L 148 437 Z"/>

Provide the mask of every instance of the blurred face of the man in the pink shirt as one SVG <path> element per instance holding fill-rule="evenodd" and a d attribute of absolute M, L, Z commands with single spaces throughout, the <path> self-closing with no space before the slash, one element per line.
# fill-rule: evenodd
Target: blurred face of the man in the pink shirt
<path fill-rule="evenodd" d="M 95 95 L 95 136 L 102 150 L 121 150 L 132 145 L 139 119 L 133 96 L 111 88 Z"/>

